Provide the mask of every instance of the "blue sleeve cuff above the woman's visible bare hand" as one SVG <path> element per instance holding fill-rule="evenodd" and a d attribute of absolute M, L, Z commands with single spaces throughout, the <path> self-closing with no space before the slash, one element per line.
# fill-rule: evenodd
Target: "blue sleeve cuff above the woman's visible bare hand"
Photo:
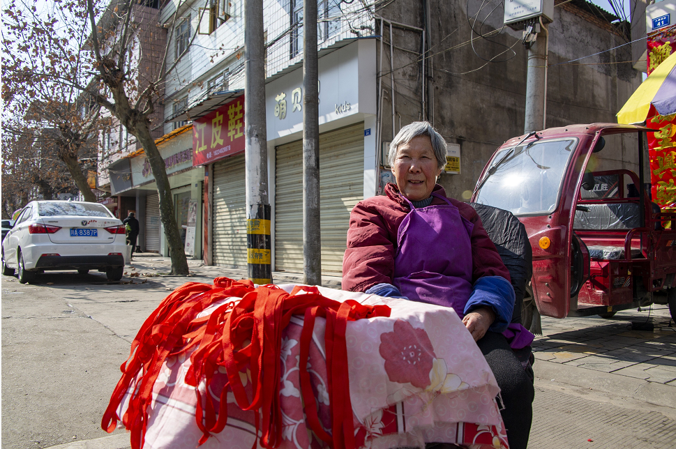
<path fill-rule="evenodd" d="M 470 300 L 465 305 L 465 314 L 488 305 L 495 312 L 495 321 L 490 325 L 491 332 L 501 333 L 511 321 L 516 296 L 511 283 L 502 276 L 483 276 L 474 282 Z"/>

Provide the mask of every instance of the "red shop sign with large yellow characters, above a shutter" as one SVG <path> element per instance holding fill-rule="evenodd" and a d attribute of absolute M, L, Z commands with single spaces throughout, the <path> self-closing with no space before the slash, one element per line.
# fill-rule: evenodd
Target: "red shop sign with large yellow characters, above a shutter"
<path fill-rule="evenodd" d="M 193 122 L 193 167 L 244 151 L 244 96 Z"/>

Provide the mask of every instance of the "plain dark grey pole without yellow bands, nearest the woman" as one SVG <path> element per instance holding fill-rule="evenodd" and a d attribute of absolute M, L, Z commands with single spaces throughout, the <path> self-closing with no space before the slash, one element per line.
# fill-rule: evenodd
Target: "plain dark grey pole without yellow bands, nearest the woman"
<path fill-rule="evenodd" d="M 303 2 L 303 283 L 322 284 L 317 2 Z"/>

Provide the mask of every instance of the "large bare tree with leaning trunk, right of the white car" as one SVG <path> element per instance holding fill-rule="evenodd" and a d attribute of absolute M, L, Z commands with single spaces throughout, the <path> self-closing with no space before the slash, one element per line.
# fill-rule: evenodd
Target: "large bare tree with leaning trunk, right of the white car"
<path fill-rule="evenodd" d="M 157 20 L 149 26 L 147 17 L 158 17 L 159 12 L 150 7 L 153 3 L 158 2 L 61 0 L 54 8 L 38 12 L 32 2 L 11 0 L 5 13 L 13 24 L 9 38 L 3 36 L 3 66 L 28 84 L 39 80 L 77 89 L 138 139 L 156 180 L 172 273 L 188 274 L 169 178 L 151 128 L 158 124 L 156 112 L 167 75 L 188 53 L 197 30 L 183 52 L 167 64 L 168 43 L 183 1 L 176 6 L 169 36 L 166 29 L 155 25 Z M 3 98 L 16 94 L 3 85 Z"/>

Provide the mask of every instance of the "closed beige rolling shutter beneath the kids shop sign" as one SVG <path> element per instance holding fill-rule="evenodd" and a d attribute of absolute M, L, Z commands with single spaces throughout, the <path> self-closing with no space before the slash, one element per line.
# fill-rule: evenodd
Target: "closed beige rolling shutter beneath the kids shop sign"
<path fill-rule="evenodd" d="M 276 149 L 275 269 L 303 272 L 303 142 Z M 343 273 L 350 211 L 363 199 L 363 123 L 320 135 L 322 274 Z"/>

